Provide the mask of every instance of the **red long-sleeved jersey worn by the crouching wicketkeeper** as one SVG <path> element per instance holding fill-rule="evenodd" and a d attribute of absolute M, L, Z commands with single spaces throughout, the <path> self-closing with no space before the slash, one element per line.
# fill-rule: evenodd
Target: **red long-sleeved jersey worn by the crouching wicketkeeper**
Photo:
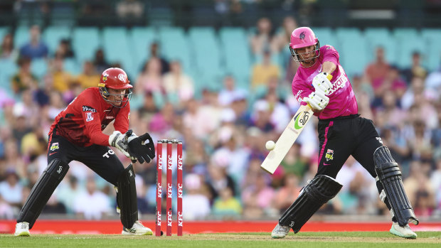
<path fill-rule="evenodd" d="M 115 119 L 115 130 L 124 134 L 129 129 L 129 114 L 129 102 L 125 107 L 114 107 L 102 98 L 98 87 L 90 87 L 55 117 L 49 136 L 55 131 L 77 146 L 109 146 L 109 136 L 102 130 Z"/>

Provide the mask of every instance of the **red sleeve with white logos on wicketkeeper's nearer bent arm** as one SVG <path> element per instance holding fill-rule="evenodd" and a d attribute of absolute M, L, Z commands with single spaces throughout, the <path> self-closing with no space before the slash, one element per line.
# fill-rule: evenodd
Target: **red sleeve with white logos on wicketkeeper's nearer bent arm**
<path fill-rule="evenodd" d="M 80 99 L 78 102 L 85 124 L 85 135 L 93 144 L 109 146 L 109 136 L 101 131 L 100 103 L 93 97 L 83 97 L 83 101 Z"/>

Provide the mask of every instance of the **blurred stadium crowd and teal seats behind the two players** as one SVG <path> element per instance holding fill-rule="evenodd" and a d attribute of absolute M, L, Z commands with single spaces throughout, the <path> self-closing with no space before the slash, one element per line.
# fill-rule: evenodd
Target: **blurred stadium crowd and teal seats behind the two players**
<path fill-rule="evenodd" d="M 1 0 L 0 219 L 16 218 L 47 166 L 56 115 L 120 67 L 130 128 L 184 142 L 184 220 L 276 221 L 317 171 L 317 118 L 273 176 L 260 169 L 299 108 L 287 46 L 298 26 L 339 51 L 415 214 L 441 220 L 440 0 Z M 156 163 L 134 170 L 154 220 Z M 344 188 L 317 216 L 390 220 L 354 158 L 336 179 Z M 73 161 L 40 220 L 117 220 L 115 205 L 112 185 Z"/>

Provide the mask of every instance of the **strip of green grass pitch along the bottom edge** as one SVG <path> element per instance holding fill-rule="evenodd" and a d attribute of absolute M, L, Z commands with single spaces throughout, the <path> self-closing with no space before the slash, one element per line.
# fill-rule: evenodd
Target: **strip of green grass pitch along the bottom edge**
<path fill-rule="evenodd" d="M 171 237 L 110 234 L 34 234 L 14 237 L 0 234 L 0 247 L 441 247 L 441 232 L 417 232 L 418 239 L 403 239 L 388 232 L 290 232 L 285 239 L 270 233 L 184 234 Z"/>

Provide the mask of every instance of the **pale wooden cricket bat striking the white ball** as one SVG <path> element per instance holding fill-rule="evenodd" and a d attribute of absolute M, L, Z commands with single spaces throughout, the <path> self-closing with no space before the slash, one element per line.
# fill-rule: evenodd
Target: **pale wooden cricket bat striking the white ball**
<path fill-rule="evenodd" d="M 294 144 L 294 141 L 302 132 L 304 126 L 309 122 L 309 119 L 312 118 L 312 114 L 314 114 L 314 112 L 312 112 L 309 104 L 302 105 L 299 110 L 297 110 L 288 126 L 282 132 L 282 135 L 277 139 L 274 149 L 268 153 L 260 166 L 262 169 L 271 174 L 275 172 L 283 158 L 287 155 L 292 144 Z"/>

